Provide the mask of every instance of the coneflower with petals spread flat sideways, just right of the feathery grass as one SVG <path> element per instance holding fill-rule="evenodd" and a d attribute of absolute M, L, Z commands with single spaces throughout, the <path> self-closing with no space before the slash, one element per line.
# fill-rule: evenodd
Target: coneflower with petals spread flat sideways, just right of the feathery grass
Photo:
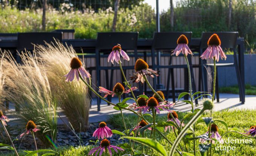
<path fill-rule="evenodd" d="M 112 97 L 114 97 L 115 95 L 120 96 L 123 93 L 128 94 L 129 92 L 131 92 L 130 89 L 128 89 L 128 90 L 124 89 L 124 86 L 121 83 L 115 84 L 115 86 L 113 87 L 113 92 L 110 91 L 110 90 L 105 89 L 104 87 L 99 87 L 99 88 L 100 88 L 99 92 L 105 94 L 104 98 L 106 98 L 108 95 L 112 95 Z M 131 89 L 133 91 L 133 90 L 136 90 L 138 88 L 137 87 L 132 87 Z"/>

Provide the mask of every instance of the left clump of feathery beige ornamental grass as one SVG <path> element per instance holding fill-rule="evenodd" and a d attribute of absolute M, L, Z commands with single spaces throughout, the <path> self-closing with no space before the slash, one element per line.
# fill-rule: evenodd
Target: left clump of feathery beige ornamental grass
<path fill-rule="evenodd" d="M 34 120 L 38 128 L 37 137 L 46 146 L 51 146 L 47 138 L 55 142 L 57 136 L 57 101 L 52 97 L 46 71 L 36 55 L 21 52 L 21 64 L 18 64 L 10 52 L 3 58 L 6 75 L 6 98 L 13 102 L 20 111 L 16 115 L 25 125 Z"/>

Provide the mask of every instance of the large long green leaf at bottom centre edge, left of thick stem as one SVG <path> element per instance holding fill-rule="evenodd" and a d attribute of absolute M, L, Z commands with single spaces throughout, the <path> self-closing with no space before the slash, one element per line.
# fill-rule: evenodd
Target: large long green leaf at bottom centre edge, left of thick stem
<path fill-rule="evenodd" d="M 153 139 L 150 139 L 150 138 L 138 138 L 138 137 L 130 137 L 130 136 L 123 136 L 122 138 L 132 139 L 135 142 L 146 145 L 147 147 L 157 151 L 158 153 L 160 153 L 163 156 L 167 156 L 167 152 L 166 152 L 164 146 L 162 146 L 156 140 L 153 140 Z"/>

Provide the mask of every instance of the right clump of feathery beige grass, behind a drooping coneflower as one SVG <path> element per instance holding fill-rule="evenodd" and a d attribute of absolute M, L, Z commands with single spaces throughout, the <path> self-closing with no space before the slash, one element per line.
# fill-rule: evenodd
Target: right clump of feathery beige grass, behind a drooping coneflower
<path fill-rule="evenodd" d="M 76 130 L 81 128 L 85 131 L 90 108 L 87 87 L 82 81 L 67 83 L 63 76 L 70 71 L 71 58 L 77 57 L 75 50 L 57 42 L 55 45 L 36 46 L 36 51 L 46 69 L 52 93 L 60 101 L 64 114 Z"/>

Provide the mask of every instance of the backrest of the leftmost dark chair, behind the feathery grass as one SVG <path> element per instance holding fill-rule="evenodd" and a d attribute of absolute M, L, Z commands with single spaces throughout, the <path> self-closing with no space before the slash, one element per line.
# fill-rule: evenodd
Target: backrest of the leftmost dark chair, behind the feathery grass
<path fill-rule="evenodd" d="M 18 33 L 17 50 L 33 50 L 33 44 L 45 45 L 44 41 L 55 42 L 54 39 L 62 42 L 62 33 Z"/>

